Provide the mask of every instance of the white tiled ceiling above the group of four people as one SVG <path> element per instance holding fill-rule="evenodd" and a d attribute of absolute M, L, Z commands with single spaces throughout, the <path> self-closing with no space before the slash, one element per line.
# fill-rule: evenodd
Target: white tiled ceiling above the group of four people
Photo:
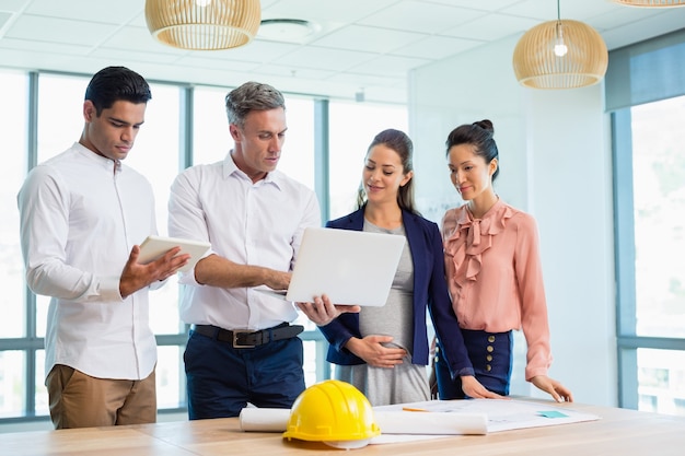
<path fill-rule="evenodd" d="M 404 103 L 409 70 L 556 16 L 555 0 L 262 0 L 263 20 L 307 20 L 318 30 L 189 51 L 150 35 L 144 0 L 0 0 L 0 67 L 92 74 L 124 65 L 151 80 L 229 86 L 256 80 L 283 92 L 346 98 L 363 92 L 367 101 Z M 593 26 L 611 50 L 684 27 L 685 8 L 562 0 L 561 19 Z"/>

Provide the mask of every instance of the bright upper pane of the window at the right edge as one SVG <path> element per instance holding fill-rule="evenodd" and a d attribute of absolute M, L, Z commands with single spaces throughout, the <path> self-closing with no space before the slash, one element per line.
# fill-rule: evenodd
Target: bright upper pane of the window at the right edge
<path fill-rule="evenodd" d="M 685 96 L 631 117 L 636 332 L 685 338 Z"/>

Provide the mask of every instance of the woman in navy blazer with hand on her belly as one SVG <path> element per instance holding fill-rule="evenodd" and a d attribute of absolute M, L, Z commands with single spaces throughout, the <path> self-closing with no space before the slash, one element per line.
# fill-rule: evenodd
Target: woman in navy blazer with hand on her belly
<path fill-rule="evenodd" d="M 408 244 L 404 277 L 410 279 L 404 288 L 407 295 L 413 295 L 410 303 L 403 307 L 396 303 L 402 297 L 392 294 L 403 269 L 400 260 L 391 299 L 381 311 L 364 307 L 359 314 L 342 314 L 320 327 L 329 342 L 327 360 L 345 366 L 338 367 L 337 372 L 342 374 L 336 376 L 355 384 L 373 406 L 429 399 L 425 369 L 429 359 L 428 307 L 443 349 L 441 355 L 448 361 L 452 376 L 461 376 L 464 393 L 469 397 L 499 397 L 474 377 L 448 293 L 438 225 L 414 209 L 411 149 L 411 140 L 402 131 L 391 129 L 379 133 L 367 152 L 359 209 L 326 223 L 332 229 L 404 234 Z M 411 315 L 397 315 L 409 305 Z M 363 320 L 379 316 L 382 320 Z M 390 321 L 394 318 L 400 321 Z M 381 334 L 374 332 L 379 329 Z M 384 330 L 399 334 L 383 335 Z M 398 341 L 406 341 L 408 347 Z"/>

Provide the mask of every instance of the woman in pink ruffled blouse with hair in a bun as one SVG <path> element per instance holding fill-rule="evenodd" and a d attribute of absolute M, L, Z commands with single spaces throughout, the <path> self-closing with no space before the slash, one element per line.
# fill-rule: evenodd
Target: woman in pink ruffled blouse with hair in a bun
<path fill-rule="evenodd" d="M 489 390 L 509 394 L 512 330 L 527 342 L 525 379 L 557 401 L 571 391 L 547 376 L 552 364 L 549 325 L 535 220 L 503 202 L 492 188 L 499 173 L 490 120 L 455 128 L 448 137 L 450 178 L 465 204 L 442 220 L 445 272 L 476 378 Z M 440 356 L 436 376 L 441 399 L 463 398 Z"/>

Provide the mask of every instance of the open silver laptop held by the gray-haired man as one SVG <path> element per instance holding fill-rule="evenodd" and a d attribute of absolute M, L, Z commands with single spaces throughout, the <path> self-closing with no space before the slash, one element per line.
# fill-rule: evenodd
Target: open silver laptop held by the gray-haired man
<path fill-rule="evenodd" d="M 405 242 L 394 234 L 307 227 L 288 290 L 257 290 L 294 302 L 326 294 L 334 304 L 382 306 Z"/>

